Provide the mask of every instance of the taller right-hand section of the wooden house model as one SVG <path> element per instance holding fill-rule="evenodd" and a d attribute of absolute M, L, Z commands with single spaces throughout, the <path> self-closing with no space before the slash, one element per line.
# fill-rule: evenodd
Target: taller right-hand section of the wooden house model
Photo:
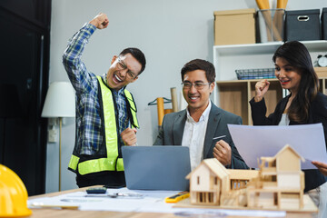
<path fill-rule="evenodd" d="M 290 209 L 303 207 L 303 158 L 285 145 L 273 157 L 262 157 L 259 177 L 247 185 L 248 207 Z"/>

